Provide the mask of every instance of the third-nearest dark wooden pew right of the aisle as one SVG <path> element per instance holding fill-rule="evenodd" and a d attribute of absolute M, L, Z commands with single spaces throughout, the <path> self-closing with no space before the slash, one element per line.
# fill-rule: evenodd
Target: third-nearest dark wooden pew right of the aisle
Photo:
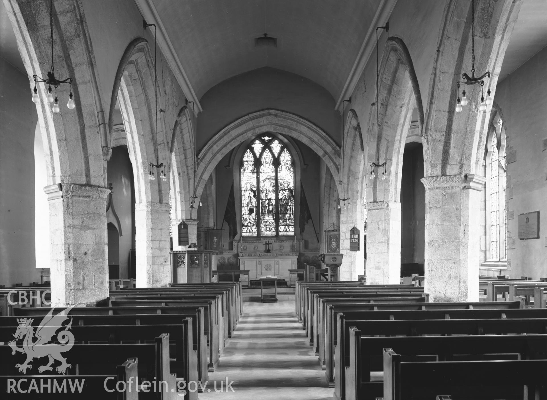
<path fill-rule="evenodd" d="M 547 319 L 453 319 L 453 320 L 388 320 L 388 321 L 350 321 L 347 323 L 349 332 L 358 332 L 362 336 L 419 336 L 419 335 L 485 335 L 485 334 L 546 334 Z M 350 343 L 349 352 L 352 354 L 354 349 L 351 347 L 352 340 L 348 338 Z M 337 346 L 338 348 L 338 346 Z M 338 350 L 337 350 L 338 351 Z M 341 360 L 341 358 L 338 358 Z M 350 365 L 340 361 L 336 364 L 336 371 L 340 365 L 343 365 L 345 371 L 353 368 Z M 341 369 L 341 368 L 340 368 Z M 335 373 L 335 378 L 336 378 Z M 346 396 L 347 391 L 352 390 L 351 383 L 341 377 L 335 379 L 337 387 L 340 384 L 340 398 L 351 400 Z M 342 389 L 342 380 L 344 380 L 345 390 Z"/>

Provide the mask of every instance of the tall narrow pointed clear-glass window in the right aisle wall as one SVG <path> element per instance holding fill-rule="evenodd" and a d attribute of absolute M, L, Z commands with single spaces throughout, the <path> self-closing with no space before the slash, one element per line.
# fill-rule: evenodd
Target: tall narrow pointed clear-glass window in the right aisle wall
<path fill-rule="evenodd" d="M 507 200 L 505 131 L 501 118 L 496 119 L 487 141 L 486 223 L 488 228 L 488 260 L 507 260 Z"/>

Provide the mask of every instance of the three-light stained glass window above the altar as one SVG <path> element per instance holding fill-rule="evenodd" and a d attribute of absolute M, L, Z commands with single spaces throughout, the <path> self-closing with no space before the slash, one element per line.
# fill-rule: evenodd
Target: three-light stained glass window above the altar
<path fill-rule="evenodd" d="M 243 236 L 294 235 L 294 163 L 280 140 L 253 140 L 241 161 Z"/>

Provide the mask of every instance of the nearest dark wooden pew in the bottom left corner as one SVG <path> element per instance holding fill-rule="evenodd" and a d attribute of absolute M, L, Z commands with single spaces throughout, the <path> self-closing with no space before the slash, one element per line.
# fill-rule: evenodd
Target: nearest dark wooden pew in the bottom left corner
<path fill-rule="evenodd" d="M 116 374 L 112 375 L 3 375 L 0 376 L 0 385 L 6 390 L 2 395 L 3 399 L 7 400 L 25 400 L 32 396 L 33 399 L 90 399 L 101 398 L 104 400 L 146 400 L 147 398 L 155 398 L 155 396 L 146 396 L 147 393 L 139 393 L 135 390 L 135 383 L 138 381 L 138 363 L 136 358 L 128 358 L 123 364 L 116 367 Z M 23 380 L 23 385 L 18 384 Z M 124 391 L 106 391 L 104 383 L 108 382 L 115 387 L 118 382 L 124 382 L 125 387 L 132 385 L 132 390 Z M 37 391 L 42 393 L 34 394 L 32 383 L 36 384 Z M 120 385 L 120 390 L 124 385 Z M 65 390 L 66 388 L 66 390 Z M 30 394 L 32 392 L 32 394 Z"/>

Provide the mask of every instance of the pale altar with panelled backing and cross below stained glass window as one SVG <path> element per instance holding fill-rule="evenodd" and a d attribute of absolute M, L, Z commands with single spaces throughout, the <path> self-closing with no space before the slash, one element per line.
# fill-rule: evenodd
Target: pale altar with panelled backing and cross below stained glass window
<path fill-rule="evenodd" d="M 289 269 L 298 266 L 298 244 L 275 239 L 267 243 L 261 240 L 240 243 L 240 269 L 249 271 L 249 280 L 271 275 L 288 283 Z"/>

